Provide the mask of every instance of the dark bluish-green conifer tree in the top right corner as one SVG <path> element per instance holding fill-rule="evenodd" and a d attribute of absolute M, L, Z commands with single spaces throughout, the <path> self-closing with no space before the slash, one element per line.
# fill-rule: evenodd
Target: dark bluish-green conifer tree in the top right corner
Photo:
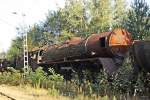
<path fill-rule="evenodd" d="M 150 9 L 145 0 L 134 0 L 125 27 L 134 39 L 144 39 L 150 35 Z"/>

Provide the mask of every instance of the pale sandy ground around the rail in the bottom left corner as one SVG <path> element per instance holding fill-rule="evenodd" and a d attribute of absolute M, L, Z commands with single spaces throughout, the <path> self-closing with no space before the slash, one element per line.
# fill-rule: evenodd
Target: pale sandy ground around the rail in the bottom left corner
<path fill-rule="evenodd" d="M 0 100 L 13 100 L 2 94 L 14 98 L 14 100 L 69 100 L 62 96 L 49 96 L 44 89 L 34 89 L 30 86 L 8 86 L 0 85 Z"/>

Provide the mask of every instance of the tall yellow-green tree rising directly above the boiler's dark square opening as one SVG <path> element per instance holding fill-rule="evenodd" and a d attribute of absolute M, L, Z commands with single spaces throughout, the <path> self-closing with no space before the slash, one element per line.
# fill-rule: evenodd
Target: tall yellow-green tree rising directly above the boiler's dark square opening
<path fill-rule="evenodd" d="M 92 32 L 108 31 L 112 23 L 111 0 L 91 0 L 90 14 Z"/>

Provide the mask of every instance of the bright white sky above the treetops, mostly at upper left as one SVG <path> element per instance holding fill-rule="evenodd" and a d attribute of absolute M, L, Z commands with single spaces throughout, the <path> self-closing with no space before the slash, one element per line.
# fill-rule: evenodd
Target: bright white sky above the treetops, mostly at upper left
<path fill-rule="evenodd" d="M 0 52 L 7 51 L 17 36 L 16 27 L 33 25 L 45 19 L 48 10 L 63 7 L 64 0 L 0 0 Z M 133 0 L 127 0 L 127 5 Z M 150 5 L 150 0 L 146 0 Z M 17 12 L 13 14 L 12 12 Z M 23 18 L 22 14 L 26 16 Z"/>

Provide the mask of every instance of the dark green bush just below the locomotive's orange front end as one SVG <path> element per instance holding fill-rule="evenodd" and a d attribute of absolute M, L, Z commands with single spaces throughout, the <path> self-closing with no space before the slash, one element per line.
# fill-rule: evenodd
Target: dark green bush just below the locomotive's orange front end
<path fill-rule="evenodd" d="M 123 94 L 131 92 L 133 68 L 131 60 L 126 58 L 123 65 L 117 70 L 112 77 L 112 82 L 109 84 L 109 90 L 113 94 Z"/>

